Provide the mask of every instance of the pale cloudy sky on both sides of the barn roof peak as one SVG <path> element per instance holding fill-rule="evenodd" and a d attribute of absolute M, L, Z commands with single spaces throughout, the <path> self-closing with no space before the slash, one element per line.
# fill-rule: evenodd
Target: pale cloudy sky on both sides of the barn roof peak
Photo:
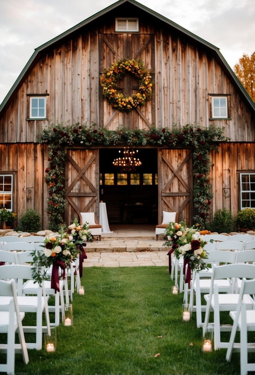
<path fill-rule="evenodd" d="M 34 49 L 112 0 L 0 0 L 0 103 Z M 255 0 L 138 0 L 220 48 L 230 67 L 255 51 Z"/>

